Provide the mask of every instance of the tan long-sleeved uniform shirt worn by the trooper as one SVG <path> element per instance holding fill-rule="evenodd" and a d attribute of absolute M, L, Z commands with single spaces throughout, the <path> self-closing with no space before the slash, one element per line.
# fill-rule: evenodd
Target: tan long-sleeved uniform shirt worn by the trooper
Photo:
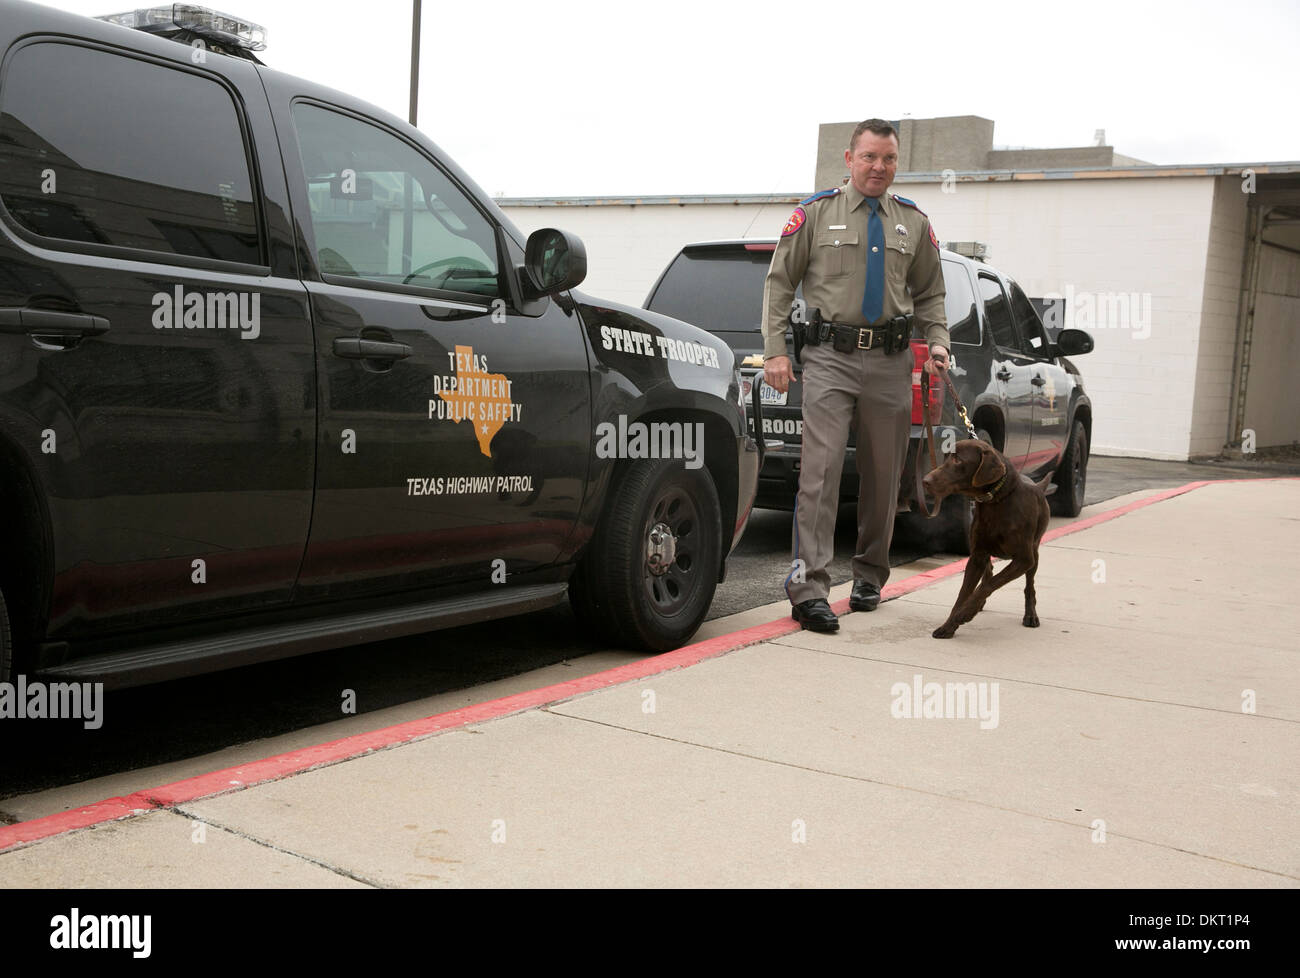
<path fill-rule="evenodd" d="M 789 356 L 785 329 L 794 289 L 803 284 L 803 300 L 822 317 L 850 326 L 870 326 L 862 315 L 867 287 L 867 220 L 871 208 L 853 183 L 818 196 L 796 209 L 772 254 L 763 286 L 763 355 Z M 803 222 L 789 231 L 803 212 Z M 944 316 L 944 274 L 930 218 L 890 194 L 880 198 L 885 235 L 885 298 L 879 323 L 905 313 L 933 346 L 950 350 Z M 900 230 L 901 229 L 901 230 Z"/>

